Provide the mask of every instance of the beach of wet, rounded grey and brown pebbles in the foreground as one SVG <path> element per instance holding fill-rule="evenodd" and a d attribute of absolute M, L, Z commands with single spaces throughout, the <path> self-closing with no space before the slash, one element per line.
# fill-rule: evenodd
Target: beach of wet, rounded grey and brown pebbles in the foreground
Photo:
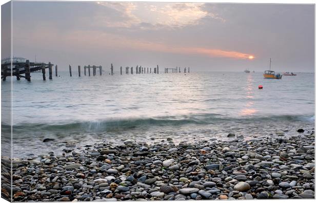
<path fill-rule="evenodd" d="M 171 138 L 157 144 L 101 142 L 65 156 L 14 159 L 13 199 L 314 198 L 314 135 L 306 129 L 290 137 L 178 145 Z"/>

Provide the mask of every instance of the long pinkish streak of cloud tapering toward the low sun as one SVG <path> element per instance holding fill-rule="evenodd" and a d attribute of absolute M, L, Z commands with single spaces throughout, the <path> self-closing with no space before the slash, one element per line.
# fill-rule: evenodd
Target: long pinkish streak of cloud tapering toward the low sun
<path fill-rule="evenodd" d="M 101 31 L 77 30 L 67 33 L 52 33 L 51 31 L 33 30 L 26 35 L 25 39 L 14 39 L 15 44 L 28 45 L 29 41 L 38 42 L 39 48 L 50 47 L 51 50 L 59 50 L 61 47 L 68 47 L 70 50 L 87 50 L 93 47 L 94 51 L 103 52 L 104 50 L 131 50 L 131 51 L 151 51 L 171 54 L 183 54 L 186 56 L 205 56 L 208 58 L 228 58 L 228 59 L 249 59 L 252 54 L 233 50 L 222 50 L 196 46 L 176 46 L 174 44 L 158 43 L 146 40 L 138 40 Z M 50 39 L 50 40 L 48 40 Z M 51 41 L 56 41 L 54 45 Z M 81 43 L 78 43 L 81 42 Z M 67 49 L 68 49 L 67 48 Z"/>

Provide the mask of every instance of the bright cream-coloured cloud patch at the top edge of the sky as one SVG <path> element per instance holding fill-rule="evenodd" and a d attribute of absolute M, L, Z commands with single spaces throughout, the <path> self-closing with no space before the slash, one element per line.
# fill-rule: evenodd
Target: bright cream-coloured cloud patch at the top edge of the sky
<path fill-rule="evenodd" d="M 107 13 L 99 15 L 101 23 L 108 27 L 181 28 L 200 24 L 200 20 L 205 17 L 225 21 L 216 13 L 206 10 L 204 3 L 97 2 L 97 4 L 118 12 L 117 16 L 112 17 Z"/>

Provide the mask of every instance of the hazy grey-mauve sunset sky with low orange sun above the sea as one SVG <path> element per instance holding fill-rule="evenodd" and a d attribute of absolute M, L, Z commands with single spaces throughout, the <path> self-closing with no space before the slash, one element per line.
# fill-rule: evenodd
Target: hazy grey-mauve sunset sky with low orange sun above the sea
<path fill-rule="evenodd" d="M 314 5 L 13 2 L 13 56 L 68 65 L 314 71 Z M 2 54 L 3 55 L 3 54 Z"/>

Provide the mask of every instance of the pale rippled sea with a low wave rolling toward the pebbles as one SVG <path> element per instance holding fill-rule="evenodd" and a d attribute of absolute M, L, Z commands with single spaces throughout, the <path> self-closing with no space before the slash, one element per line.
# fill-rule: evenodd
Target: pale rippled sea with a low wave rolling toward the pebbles
<path fill-rule="evenodd" d="M 15 156 L 60 150 L 65 142 L 79 146 L 167 137 L 179 142 L 227 139 L 228 133 L 248 138 L 314 126 L 310 73 L 282 80 L 264 79 L 262 72 L 59 75 L 42 81 L 42 73 L 32 73 L 30 83 L 14 78 Z M 2 82 L 2 88 L 9 85 L 10 79 Z M 43 143 L 44 138 L 59 143 Z"/>

